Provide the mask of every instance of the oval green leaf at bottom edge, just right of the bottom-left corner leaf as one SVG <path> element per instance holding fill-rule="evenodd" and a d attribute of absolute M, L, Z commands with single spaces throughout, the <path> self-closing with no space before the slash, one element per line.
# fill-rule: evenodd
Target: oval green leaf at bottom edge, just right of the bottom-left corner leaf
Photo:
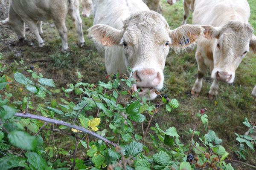
<path fill-rule="evenodd" d="M 47 167 L 46 161 L 44 158 L 39 156 L 37 153 L 29 152 L 27 154 L 28 161 L 32 164 L 37 170 L 44 170 Z"/>

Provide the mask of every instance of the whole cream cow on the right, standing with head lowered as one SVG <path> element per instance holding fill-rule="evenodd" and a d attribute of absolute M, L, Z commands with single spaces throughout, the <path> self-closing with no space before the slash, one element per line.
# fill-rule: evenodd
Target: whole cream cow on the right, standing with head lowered
<path fill-rule="evenodd" d="M 209 25 L 202 26 L 205 38 L 198 40 L 198 78 L 192 95 L 199 95 L 207 67 L 213 79 L 209 90 L 212 99 L 218 93 L 219 81 L 233 83 L 235 71 L 249 47 L 256 52 L 256 36 L 248 23 L 249 17 L 247 0 L 195 0 L 192 23 Z"/>

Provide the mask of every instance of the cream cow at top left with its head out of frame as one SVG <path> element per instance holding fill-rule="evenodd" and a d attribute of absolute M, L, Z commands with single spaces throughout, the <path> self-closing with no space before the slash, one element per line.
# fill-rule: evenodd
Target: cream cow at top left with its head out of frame
<path fill-rule="evenodd" d="M 62 41 L 62 52 L 68 49 L 67 27 L 65 20 L 70 14 L 79 37 L 79 46 L 84 45 L 82 20 L 79 14 L 79 0 L 10 0 L 9 16 L 0 22 L 9 25 L 16 32 L 18 39 L 25 37 L 25 23 L 29 26 L 38 40 L 38 45 L 44 46 L 40 34 L 42 21 L 53 20 Z"/>

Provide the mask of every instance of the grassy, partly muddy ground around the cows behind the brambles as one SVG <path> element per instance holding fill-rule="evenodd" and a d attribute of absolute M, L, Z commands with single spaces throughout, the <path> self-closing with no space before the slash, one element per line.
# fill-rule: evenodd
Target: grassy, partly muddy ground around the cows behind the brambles
<path fill-rule="evenodd" d="M 255 29 L 256 35 L 256 3 L 255 0 L 248 0 L 251 8 L 250 24 Z M 166 18 L 171 29 L 180 26 L 183 19 L 182 1 L 170 6 L 161 0 L 163 16 Z M 6 4 L 7 7 L 7 4 Z M 7 17 L 7 11 L 1 7 L 0 20 Z M 93 16 L 83 18 L 83 30 L 85 46 L 77 46 L 78 39 L 75 28 L 70 20 L 67 19 L 68 43 L 70 50 L 66 54 L 60 52 L 61 40 L 56 28 L 52 28 L 52 21 L 45 22 L 43 25 L 44 35 L 42 38 L 46 45 L 38 47 L 35 36 L 27 27 L 26 43 L 17 42 L 15 32 L 8 27 L 0 26 L 0 74 L 7 75 L 13 80 L 14 72 L 21 71 L 24 75 L 29 74 L 24 71 L 30 66 L 35 66 L 38 72 L 41 72 L 45 78 L 52 78 L 55 81 L 57 89 L 62 86 L 67 87 L 69 83 L 76 82 L 76 70 L 84 75 L 84 81 L 97 84 L 98 81 L 105 81 L 106 70 L 104 59 L 96 52 L 93 43 L 88 40 L 86 30 L 92 26 Z M 188 24 L 191 23 L 191 15 Z M 236 78 L 233 84 L 219 84 L 218 96 L 215 100 L 209 100 L 207 92 L 212 81 L 209 81 L 210 72 L 207 78 L 204 78 L 201 93 L 198 98 L 190 97 L 190 90 L 197 77 L 197 63 L 195 60 L 195 50 L 184 54 L 175 54 L 170 52 L 166 59 L 165 88 L 162 94 L 168 94 L 170 98 L 176 98 L 180 106 L 173 109 L 171 113 L 161 111 L 153 120 L 163 129 L 176 127 L 177 133 L 181 136 L 183 143 L 189 143 L 189 128 L 192 128 L 191 114 L 195 114 L 199 109 L 208 109 L 209 124 L 203 126 L 198 124 L 198 131 L 202 133 L 212 129 L 219 138 L 223 139 L 223 145 L 228 148 L 236 144 L 236 135 L 244 134 L 247 128 L 242 124 L 245 117 L 249 121 L 256 121 L 256 99 L 250 95 L 253 87 L 256 85 L 256 55 L 249 53 L 244 58 L 239 68 L 236 70 Z M 7 89 L 13 93 L 15 98 L 12 100 L 22 100 L 23 93 L 17 90 L 15 84 Z M 52 98 L 61 98 L 58 94 L 53 94 Z M 75 98 L 76 96 L 72 96 Z M 155 99 L 158 103 L 160 98 Z M 48 101 L 46 101 L 48 102 Z M 58 101 L 58 103 L 61 103 Z M 164 120 L 164 121 L 163 121 Z M 138 127 L 138 131 L 140 131 Z M 61 143 L 61 139 L 56 142 Z M 62 143 L 68 146 L 71 141 Z M 247 161 L 256 164 L 256 153 L 251 153 Z M 230 157 L 239 159 L 236 155 Z"/>

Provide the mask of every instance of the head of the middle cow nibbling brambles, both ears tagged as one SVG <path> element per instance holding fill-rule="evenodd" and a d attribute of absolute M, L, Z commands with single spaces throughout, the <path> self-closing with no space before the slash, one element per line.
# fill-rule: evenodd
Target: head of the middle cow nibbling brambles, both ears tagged
<path fill-rule="evenodd" d="M 196 25 L 171 30 L 164 17 L 153 11 L 132 14 L 123 21 L 122 30 L 104 24 L 88 29 L 90 37 L 97 44 L 110 46 L 105 48 L 119 46 L 120 50 L 117 49 L 116 53 L 122 54 L 118 57 L 124 58 L 123 67 L 129 66 L 135 71 L 133 75 L 130 73 L 130 76 L 138 80 L 133 86 L 134 90 L 142 88 L 143 92 L 139 95 L 148 99 L 157 96 L 154 91 L 150 91 L 148 96 L 149 89 L 163 88 L 163 69 L 169 47 L 184 49 L 200 36 L 202 30 L 201 26 Z"/>

